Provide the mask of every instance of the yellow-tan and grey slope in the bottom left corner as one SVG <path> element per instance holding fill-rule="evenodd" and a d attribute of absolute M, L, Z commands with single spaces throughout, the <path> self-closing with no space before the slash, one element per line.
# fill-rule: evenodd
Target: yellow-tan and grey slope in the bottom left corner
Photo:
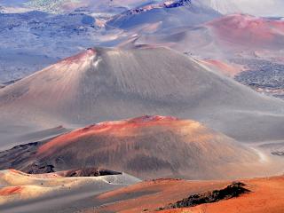
<path fill-rule="evenodd" d="M 138 178 L 125 173 L 64 177 L 60 173 L 30 175 L 18 170 L 1 170 L 1 212 L 59 212 L 63 206 L 70 212 L 78 208 L 75 205 L 80 201 L 91 201 L 96 194 L 138 182 Z M 76 208 L 70 208 L 71 205 Z"/>

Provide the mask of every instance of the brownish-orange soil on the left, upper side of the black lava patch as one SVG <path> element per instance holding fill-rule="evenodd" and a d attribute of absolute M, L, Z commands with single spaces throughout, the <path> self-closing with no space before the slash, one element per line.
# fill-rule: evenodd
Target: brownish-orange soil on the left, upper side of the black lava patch
<path fill-rule="evenodd" d="M 189 193 L 209 191 L 215 187 L 223 188 L 227 184 L 190 182 L 182 179 L 157 179 L 103 193 L 95 199 L 104 203 L 114 201 L 114 204 L 105 205 L 98 212 L 142 212 L 145 209 L 151 212 L 171 202 L 179 201 Z M 89 211 L 86 212 L 89 213 Z"/>

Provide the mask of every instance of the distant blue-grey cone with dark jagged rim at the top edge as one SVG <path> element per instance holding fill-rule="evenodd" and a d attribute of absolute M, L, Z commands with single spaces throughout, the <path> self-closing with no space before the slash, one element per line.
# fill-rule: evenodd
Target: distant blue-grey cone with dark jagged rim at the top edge
<path fill-rule="evenodd" d="M 148 4 L 144 7 L 122 12 L 108 20 L 106 24 L 114 28 L 177 28 L 194 26 L 214 18 L 220 13 L 203 4 L 195 4 L 190 0 L 166 1 L 159 4 Z M 154 28 L 154 27 L 153 27 Z"/>

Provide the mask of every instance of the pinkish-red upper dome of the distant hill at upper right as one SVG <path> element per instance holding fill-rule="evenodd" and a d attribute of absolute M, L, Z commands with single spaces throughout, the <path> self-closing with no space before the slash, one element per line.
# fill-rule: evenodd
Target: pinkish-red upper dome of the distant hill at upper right
<path fill-rule="evenodd" d="M 221 39 L 256 47 L 280 49 L 284 43 L 284 21 L 233 14 L 207 24 Z"/>

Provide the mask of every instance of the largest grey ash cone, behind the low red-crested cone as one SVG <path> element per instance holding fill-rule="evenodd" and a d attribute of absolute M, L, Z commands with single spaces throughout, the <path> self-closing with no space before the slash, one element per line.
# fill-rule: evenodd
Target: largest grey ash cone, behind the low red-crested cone
<path fill-rule="evenodd" d="M 284 102 L 165 48 L 90 49 L 0 91 L 1 144 L 23 131 L 142 114 L 204 122 L 244 141 L 284 137 Z"/>

